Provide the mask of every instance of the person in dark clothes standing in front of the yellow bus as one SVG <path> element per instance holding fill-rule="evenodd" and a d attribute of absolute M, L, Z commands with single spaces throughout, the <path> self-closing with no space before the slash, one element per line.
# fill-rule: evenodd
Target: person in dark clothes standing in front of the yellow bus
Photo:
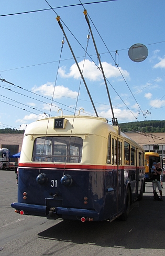
<path fill-rule="evenodd" d="M 156 188 L 158 187 L 158 190 L 159 190 L 159 193 L 160 193 L 160 200 L 162 201 L 163 198 L 162 198 L 160 175 L 161 175 L 160 162 L 157 162 L 157 168 L 155 169 L 155 172 L 152 175 L 153 196 L 156 192 Z"/>

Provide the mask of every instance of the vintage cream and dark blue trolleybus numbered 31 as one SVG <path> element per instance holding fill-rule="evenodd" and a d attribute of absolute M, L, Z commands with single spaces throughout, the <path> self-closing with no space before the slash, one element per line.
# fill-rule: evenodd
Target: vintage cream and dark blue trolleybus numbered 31
<path fill-rule="evenodd" d="M 16 212 L 54 220 L 126 220 L 144 191 L 144 150 L 106 119 L 79 111 L 26 128 Z"/>

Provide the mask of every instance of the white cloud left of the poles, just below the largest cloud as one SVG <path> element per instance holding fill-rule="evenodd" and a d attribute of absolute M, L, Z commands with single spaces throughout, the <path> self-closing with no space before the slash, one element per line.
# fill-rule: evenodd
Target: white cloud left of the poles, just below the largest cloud
<path fill-rule="evenodd" d="M 57 85 L 54 89 L 54 84 L 50 82 L 39 87 L 34 86 L 32 87 L 32 91 L 35 93 L 41 93 L 48 97 L 52 97 L 54 92 L 54 99 L 61 98 L 62 96 L 68 96 L 73 98 L 76 98 L 78 96 L 78 93 L 76 91 L 72 91 L 68 87 L 64 87 L 63 85 Z"/>

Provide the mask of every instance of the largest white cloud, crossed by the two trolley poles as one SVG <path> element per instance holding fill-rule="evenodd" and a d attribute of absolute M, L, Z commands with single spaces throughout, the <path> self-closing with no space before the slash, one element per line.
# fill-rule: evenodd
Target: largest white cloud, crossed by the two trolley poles
<path fill-rule="evenodd" d="M 84 68 L 83 68 L 84 65 Z M 100 71 L 99 68 L 96 67 L 96 65 L 93 62 L 90 62 L 89 59 L 85 60 L 85 64 L 84 64 L 84 60 L 82 60 L 81 62 L 79 62 L 79 66 L 80 69 L 83 69 L 83 76 L 84 78 L 87 78 L 91 81 L 99 81 L 103 79 L 103 75 Z M 110 77 L 122 77 L 118 68 L 113 66 L 112 64 L 109 64 L 107 62 L 102 62 L 102 66 L 104 69 L 104 74 L 106 76 L 106 78 L 110 78 Z M 121 73 L 123 74 L 123 76 L 125 78 L 129 78 L 129 73 L 126 70 L 123 70 L 122 68 L 120 68 Z M 73 77 L 74 79 L 80 79 L 80 73 L 79 73 L 79 69 L 76 66 L 76 64 L 73 64 L 70 67 L 70 72 L 66 73 L 65 71 L 65 67 L 62 66 L 59 68 L 59 74 L 61 75 L 61 77 L 63 78 L 70 78 Z"/>

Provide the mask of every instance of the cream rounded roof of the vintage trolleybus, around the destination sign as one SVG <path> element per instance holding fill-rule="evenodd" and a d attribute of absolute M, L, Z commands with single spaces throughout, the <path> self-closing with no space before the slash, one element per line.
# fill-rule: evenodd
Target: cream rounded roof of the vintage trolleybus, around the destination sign
<path fill-rule="evenodd" d="M 54 129 L 54 119 L 64 118 L 67 120 L 67 124 L 64 129 Z M 25 130 L 25 135 L 36 136 L 49 136 L 49 135 L 87 135 L 94 134 L 97 136 L 103 136 L 108 138 L 109 132 L 118 134 L 118 127 L 109 125 L 106 118 L 91 117 L 91 116 L 57 116 L 51 118 L 44 118 L 32 122 Z M 130 139 L 127 135 L 121 132 L 121 136 Z M 134 141 L 135 145 L 138 145 Z M 139 145 L 138 145 L 139 146 Z"/>

